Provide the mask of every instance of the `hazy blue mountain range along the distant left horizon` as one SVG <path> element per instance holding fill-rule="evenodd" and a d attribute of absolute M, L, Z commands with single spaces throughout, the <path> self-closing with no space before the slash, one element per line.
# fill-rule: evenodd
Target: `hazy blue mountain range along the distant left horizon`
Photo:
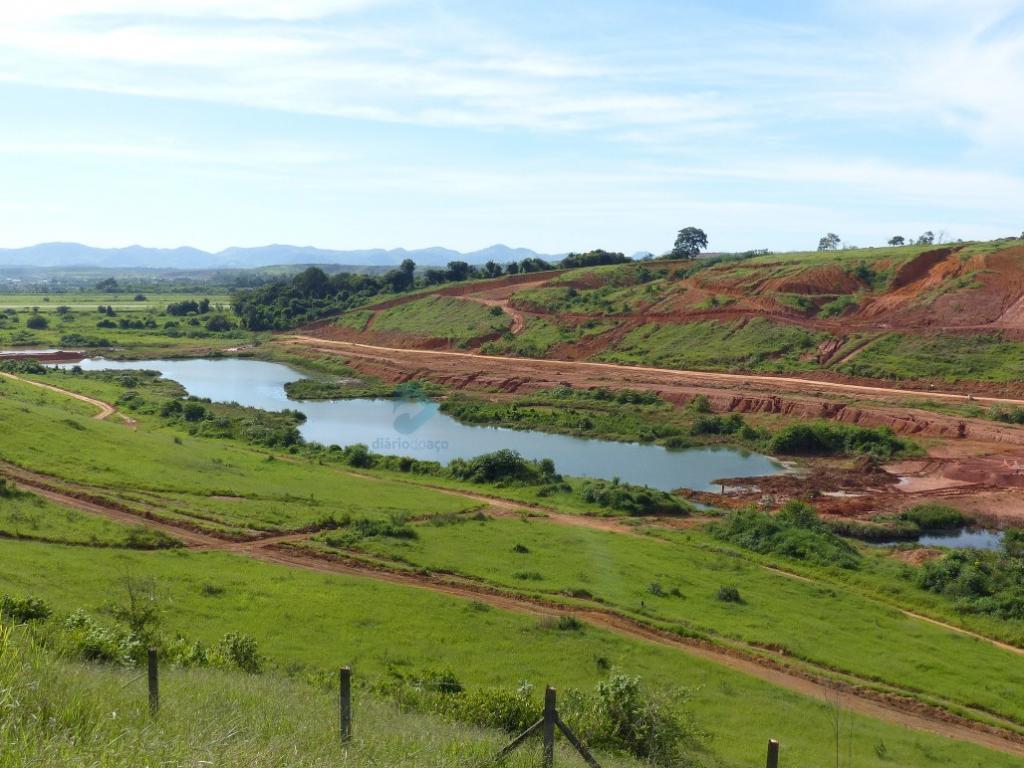
<path fill-rule="evenodd" d="M 391 266 L 412 259 L 418 266 L 443 266 L 450 261 L 482 264 L 506 263 L 528 257 L 559 259 L 564 254 L 543 254 L 528 248 L 495 245 L 479 251 L 461 253 L 449 248 L 373 248 L 361 251 L 331 251 L 311 246 L 260 246 L 225 248 L 209 253 L 198 248 L 92 248 L 79 243 L 41 243 L 28 248 L 0 248 L 0 266 L 95 266 L 155 269 L 219 269 L 279 266 L 288 264 L 351 264 Z"/>

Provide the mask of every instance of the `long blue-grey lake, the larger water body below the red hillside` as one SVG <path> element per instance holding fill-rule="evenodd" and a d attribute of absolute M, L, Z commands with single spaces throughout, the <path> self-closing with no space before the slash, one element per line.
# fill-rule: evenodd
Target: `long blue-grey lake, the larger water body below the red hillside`
<path fill-rule="evenodd" d="M 306 422 L 299 428 L 306 440 L 326 445 L 362 442 L 379 454 L 447 463 L 511 449 L 527 459 L 552 459 L 562 474 L 608 480 L 618 477 L 662 490 L 714 490 L 717 485 L 712 481 L 718 477 L 755 477 L 782 471 L 782 466 L 769 457 L 735 449 L 669 451 L 660 445 L 460 424 L 429 400 L 291 400 L 285 384 L 305 377 L 276 362 L 234 357 L 130 361 L 87 358 L 77 365 L 85 371 L 160 371 L 196 397 L 264 411 L 297 409 L 306 415 Z"/>

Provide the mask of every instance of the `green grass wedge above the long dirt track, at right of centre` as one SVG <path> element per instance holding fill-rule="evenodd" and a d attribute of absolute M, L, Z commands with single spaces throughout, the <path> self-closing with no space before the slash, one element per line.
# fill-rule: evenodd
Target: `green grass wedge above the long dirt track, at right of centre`
<path fill-rule="evenodd" d="M 856 590 L 766 570 L 703 534 L 637 538 L 535 518 L 468 519 L 416 531 L 414 540 L 374 537 L 351 546 L 398 567 L 559 598 L 589 594 L 667 629 L 771 648 L 1024 725 L 1024 672 L 1013 654 L 910 618 Z M 331 539 L 317 537 L 329 551 Z M 743 602 L 719 600 L 723 586 L 736 587 Z M 825 636 L 830 640 L 822 644 Z"/>

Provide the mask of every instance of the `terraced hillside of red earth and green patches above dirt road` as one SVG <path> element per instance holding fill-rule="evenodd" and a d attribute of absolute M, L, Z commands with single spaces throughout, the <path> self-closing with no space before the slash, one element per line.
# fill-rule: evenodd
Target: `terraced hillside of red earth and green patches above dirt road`
<path fill-rule="evenodd" d="M 306 333 L 495 355 L 1016 391 L 1024 379 L 1024 241 L 524 274 L 401 296 Z"/>

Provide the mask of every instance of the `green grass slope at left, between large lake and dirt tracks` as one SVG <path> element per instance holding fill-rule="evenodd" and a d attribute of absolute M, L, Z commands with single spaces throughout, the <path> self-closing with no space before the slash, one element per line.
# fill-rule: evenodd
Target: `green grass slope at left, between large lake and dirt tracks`
<path fill-rule="evenodd" d="M 0 457 L 99 495 L 106 490 L 140 510 L 156 508 L 170 520 L 225 532 L 289 530 L 329 516 L 432 515 L 477 506 L 408 483 L 273 459 L 232 440 L 183 435 L 155 420 L 134 430 L 113 419 L 95 421 L 88 403 L 0 381 L 0 419 L 9 430 Z"/>

